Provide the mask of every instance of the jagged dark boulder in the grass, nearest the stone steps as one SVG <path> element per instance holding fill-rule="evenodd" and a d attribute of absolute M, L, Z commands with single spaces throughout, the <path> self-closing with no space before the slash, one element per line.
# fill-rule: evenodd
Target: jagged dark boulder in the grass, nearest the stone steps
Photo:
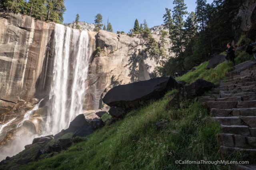
<path fill-rule="evenodd" d="M 188 86 L 183 86 L 179 92 L 174 94 L 172 100 L 167 104 L 166 110 L 169 110 L 171 107 L 179 108 L 181 101 L 192 99 L 196 96 L 201 96 L 212 88 L 214 88 L 214 84 L 212 82 L 202 79 L 198 79 Z"/>

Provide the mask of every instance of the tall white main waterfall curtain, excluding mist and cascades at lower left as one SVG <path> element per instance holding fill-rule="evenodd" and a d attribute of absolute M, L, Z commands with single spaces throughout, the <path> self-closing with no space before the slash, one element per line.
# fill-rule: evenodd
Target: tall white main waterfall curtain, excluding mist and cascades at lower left
<path fill-rule="evenodd" d="M 56 24 L 53 79 L 50 90 L 51 108 L 45 134 L 56 134 L 68 127 L 82 113 L 85 81 L 89 66 L 87 31 Z"/>

